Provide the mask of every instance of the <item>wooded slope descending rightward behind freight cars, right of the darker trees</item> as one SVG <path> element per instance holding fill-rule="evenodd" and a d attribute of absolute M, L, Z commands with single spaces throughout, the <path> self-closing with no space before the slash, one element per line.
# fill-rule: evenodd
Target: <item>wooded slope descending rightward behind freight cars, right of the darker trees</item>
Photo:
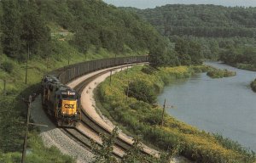
<path fill-rule="evenodd" d="M 45 20 L 55 21 L 73 31 L 73 46 L 85 53 L 91 45 L 113 53 L 148 50 L 160 35 L 136 14 L 102 1 L 41 1 Z"/>

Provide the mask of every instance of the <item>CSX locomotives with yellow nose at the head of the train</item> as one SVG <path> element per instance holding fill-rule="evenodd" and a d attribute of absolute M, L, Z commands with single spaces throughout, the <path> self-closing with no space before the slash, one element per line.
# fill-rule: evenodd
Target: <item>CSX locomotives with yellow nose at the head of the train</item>
<path fill-rule="evenodd" d="M 42 104 L 58 126 L 76 126 L 80 121 L 79 94 L 63 85 L 55 76 L 45 76 L 41 82 Z"/>

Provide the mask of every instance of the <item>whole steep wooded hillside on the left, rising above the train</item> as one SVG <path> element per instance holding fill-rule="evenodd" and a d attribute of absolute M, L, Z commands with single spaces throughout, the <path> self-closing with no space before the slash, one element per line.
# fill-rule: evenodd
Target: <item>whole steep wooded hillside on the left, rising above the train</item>
<path fill-rule="evenodd" d="M 50 25 L 73 33 L 69 42 L 80 53 L 94 46 L 114 53 L 154 48 L 160 35 L 136 14 L 102 1 L 1 1 L 1 49 L 20 61 L 29 48 L 42 58 L 57 53 Z"/>

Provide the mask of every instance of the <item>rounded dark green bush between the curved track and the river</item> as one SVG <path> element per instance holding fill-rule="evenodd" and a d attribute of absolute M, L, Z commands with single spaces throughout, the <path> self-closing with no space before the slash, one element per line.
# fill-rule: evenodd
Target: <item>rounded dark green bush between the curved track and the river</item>
<path fill-rule="evenodd" d="M 129 97 L 137 98 L 137 100 L 142 100 L 149 104 L 155 103 L 156 94 L 154 87 L 146 81 L 131 82 L 128 87 L 126 93 Z"/>

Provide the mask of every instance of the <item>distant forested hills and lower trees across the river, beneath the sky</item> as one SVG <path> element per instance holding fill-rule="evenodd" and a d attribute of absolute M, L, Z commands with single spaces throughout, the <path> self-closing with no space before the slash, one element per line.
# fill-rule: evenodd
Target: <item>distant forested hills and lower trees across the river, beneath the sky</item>
<path fill-rule="evenodd" d="M 205 59 L 241 68 L 256 65 L 256 8 L 175 4 L 123 9 L 148 20 L 174 45 L 180 40 L 196 42 Z"/>

